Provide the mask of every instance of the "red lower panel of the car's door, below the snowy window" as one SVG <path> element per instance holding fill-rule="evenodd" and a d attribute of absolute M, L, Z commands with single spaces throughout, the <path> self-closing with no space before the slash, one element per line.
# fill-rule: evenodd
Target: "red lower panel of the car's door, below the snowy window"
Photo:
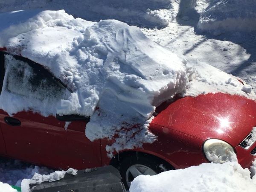
<path fill-rule="evenodd" d="M 0 123 L 8 157 L 57 169 L 101 166 L 100 140 L 91 142 L 85 137 L 85 122 L 72 122 L 66 131 L 65 122 L 54 116 L 20 112 L 13 116 L 21 121 L 16 127 L 7 125 L 5 116 L 7 113 L 1 110 Z"/>

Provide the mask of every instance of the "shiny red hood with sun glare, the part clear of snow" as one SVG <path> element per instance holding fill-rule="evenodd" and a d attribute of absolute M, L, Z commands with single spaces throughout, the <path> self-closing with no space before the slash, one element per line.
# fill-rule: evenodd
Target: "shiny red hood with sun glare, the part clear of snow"
<path fill-rule="evenodd" d="M 152 123 L 201 140 L 221 139 L 236 147 L 256 126 L 256 102 L 225 93 L 185 97 L 168 105 Z"/>

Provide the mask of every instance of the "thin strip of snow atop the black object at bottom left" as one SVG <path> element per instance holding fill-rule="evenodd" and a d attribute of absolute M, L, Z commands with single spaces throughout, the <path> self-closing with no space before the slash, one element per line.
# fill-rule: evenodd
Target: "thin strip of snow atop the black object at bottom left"
<path fill-rule="evenodd" d="M 55 180 L 60 180 L 64 178 L 66 174 L 70 175 L 76 175 L 77 170 L 70 168 L 67 169 L 67 171 L 55 171 L 53 173 L 50 173 L 49 175 L 40 175 L 38 173 L 35 173 L 35 175 L 31 179 L 23 179 L 21 182 L 21 191 L 22 192 L 30 192 L 29 185 L 30 184 L 40 184 L 45 181 L 52 182 Z"/>

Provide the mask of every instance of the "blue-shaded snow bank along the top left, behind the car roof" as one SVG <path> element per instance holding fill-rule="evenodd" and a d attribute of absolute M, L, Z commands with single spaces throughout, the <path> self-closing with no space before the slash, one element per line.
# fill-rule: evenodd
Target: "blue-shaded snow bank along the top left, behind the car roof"
<path fill-rule="evenodd" d="M 195 2 L 186 0 L 183 4 L 186 9 L 192 9 Z M 0 0 L 0 12 L 65 9 L 68 14 L 86 20 L 117 19 L 152 28 L 166 27 L 174 20 L 180 9 L 179 3 L 180 0 L 73 0 L 72 3 L 69 0 Z"/>

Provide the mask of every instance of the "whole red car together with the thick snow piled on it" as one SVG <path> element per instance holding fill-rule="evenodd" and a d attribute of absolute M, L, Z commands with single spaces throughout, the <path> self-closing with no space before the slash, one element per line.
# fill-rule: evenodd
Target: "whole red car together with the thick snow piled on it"
<path fill-rule="evenodd" d="M 113 165 L 126 187 L 234 153 L 243 167 L 255 158 L 256 96 L 241 80 L 116 20 L 36 10 L 0 23 L 1 156 L 56 169 Z"/>

